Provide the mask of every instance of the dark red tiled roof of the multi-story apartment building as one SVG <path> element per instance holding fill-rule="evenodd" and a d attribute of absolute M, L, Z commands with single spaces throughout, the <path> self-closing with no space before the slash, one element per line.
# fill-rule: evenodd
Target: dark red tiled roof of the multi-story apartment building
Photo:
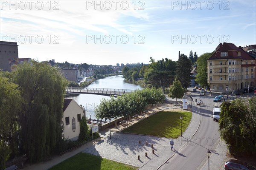
<path fill-rule="evenodd" d="M 220 44 L 221 45 L 221 44 Z M 219 46 L 219 45 L 218 45 Z M 237 56 L 237 51 L 241 52 L 241 56 Z M 221 57 L 221 52 L 228 52 L 227 57 Z M 247 54 L 242 48 L 238 48 L 233 43 L 223 42 L 223 44 L 209 57 L 208 60 L 214 59 L 243 59 L 243 60 L 252 60 L 249 54 Z"/>

